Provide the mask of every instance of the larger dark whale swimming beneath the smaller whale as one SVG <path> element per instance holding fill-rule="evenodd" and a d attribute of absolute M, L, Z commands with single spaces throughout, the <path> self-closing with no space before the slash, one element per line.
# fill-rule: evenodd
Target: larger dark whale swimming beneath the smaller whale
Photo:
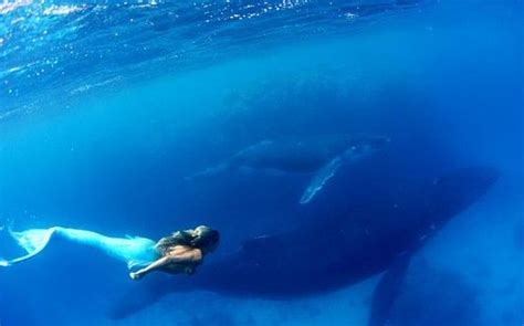
<path fill-rule="evenodd" d="M 486 167 L 454 170 L 440 178 L 407 182 L 402 187 L 370 190 L 374 198 L 339 213 L 323 215 L 321 222 L 247 241 L 238 251 L 208 262 L 191 277 L 155 275 L 136 284 L 112 315 L 133 314 L 169 292 L 207 290 L 229 295 L 286 298 L 336 290 L 379 272 L 385 274 L 376 290 L 378 317 L 387 318 L 410 255 L 460 211 L 475 202 L 497 179 Z M 380 186 L 376 186 L 380 187 Z M 390 191 L 396 189 L 396 191 Z"/>

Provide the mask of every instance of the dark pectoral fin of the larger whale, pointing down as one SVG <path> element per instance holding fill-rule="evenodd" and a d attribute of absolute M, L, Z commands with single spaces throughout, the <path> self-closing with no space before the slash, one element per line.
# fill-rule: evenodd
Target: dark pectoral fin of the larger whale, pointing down
<path fill-rule="evenodd" d="M 410 261 L 409 253 L 399 256 L 378 282 L 373 293 L 367 326 L 388 325 L 389 314 L 404 285 Z"/>

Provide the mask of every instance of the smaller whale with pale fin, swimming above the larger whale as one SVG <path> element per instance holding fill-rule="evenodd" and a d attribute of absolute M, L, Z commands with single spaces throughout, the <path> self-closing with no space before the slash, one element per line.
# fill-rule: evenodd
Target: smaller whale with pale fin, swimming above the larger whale
<path fill-rule="evenodd" d="M 380 150 L 386 137 L 325 135 L 304 139 L 263 140 L 251 145 L 216 167 L 187 179 L 209 177 L 233 169 L 313 173 L 300 202 L 310 202 L 344 164 L 358 161 Z"/>

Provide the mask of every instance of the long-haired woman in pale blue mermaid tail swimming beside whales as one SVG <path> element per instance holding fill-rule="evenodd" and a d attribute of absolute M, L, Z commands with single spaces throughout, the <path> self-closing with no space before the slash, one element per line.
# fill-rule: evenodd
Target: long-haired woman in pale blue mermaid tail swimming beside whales
<path fill-rule="evenodd" d="M 190 275 L 202 263 L 203 256 L 218 246 L 220 240 L 219 232 L 206 225 L 174 232 L 158 242 L 139 236 L 109 238 L 62 227 L 9 232 L 27 254 L 12 260 L 0 259 L 0 266 L 11 266 L 33 257 L 44 250 L 51 239 L 60 236 L 99 249 L 126 262 L 132 280 L 138 280 L 153 271 Z"/>

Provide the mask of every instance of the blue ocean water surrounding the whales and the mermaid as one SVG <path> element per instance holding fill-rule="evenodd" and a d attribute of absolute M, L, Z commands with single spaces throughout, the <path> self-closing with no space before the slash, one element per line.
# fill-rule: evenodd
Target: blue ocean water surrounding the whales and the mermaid
<path fill-rule="evenodd" d="M 495 185 L 410 252 L 381 325 L 522 325 L 523 4 L 4 1 L 0 259 L 18 250 L 7 228 L 159 239 L 206 223 L 221 232 L 213 262 L 250 239 L 317 225 L 322 240 L 303 240 L 324 245 L 303 256 L 313 271 L 318 254 L 334 251 L 325 239 L 355 250 L 336 241 L 328 217 L 382 221 L 371 208 L 402 202 L 416 180 L 489 166 L 500 172 Z M 327 134 L 390 144 L 340 168 L 306 206 L 304 173 L 186 178 L 265 139 Z M 380 239 L 390 239 L 386 231 Z M 376 259 L 366 250 L 357 249 Z M 56 241 L 0 270 L 0 325 L 371 325 L 385 271 L 279 299 L 229 295 L 228 286 L 179 291 L 114 319 L 123 296 L 158 287 L 132 282 L 95 250 Z M 334 277 L 317 276 L 311 283 Z"/>

